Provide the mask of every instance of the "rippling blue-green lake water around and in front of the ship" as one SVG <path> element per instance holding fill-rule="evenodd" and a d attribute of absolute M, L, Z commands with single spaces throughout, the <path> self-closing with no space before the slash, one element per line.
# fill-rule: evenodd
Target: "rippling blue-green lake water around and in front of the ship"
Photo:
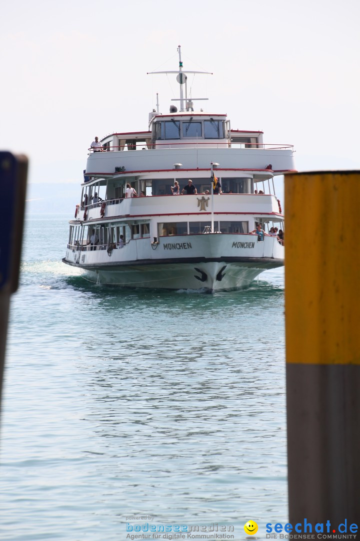
<path fill-rule="evenodd" d="M 283 269 L 226 294 L 97 286 L 61 261 L 67 218 L 25 224 L 0 539 L 125 541 L 148 523 L 238 541 L 249 519 L 264 538 L 287 522 Z"/>

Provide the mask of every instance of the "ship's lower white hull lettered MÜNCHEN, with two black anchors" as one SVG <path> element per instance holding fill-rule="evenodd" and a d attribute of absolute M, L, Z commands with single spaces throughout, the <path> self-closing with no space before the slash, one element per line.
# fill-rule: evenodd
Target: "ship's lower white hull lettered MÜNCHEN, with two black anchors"
<path fill-rule="evenodd" d="M 184 239 L 173 237 L 171 246 L 168 239 L 160 239 L 153 247 L 150 240 L 146 244 L 130 241 L 130 246 L 109 253 L 75 250 L 63 261 L 95 283 L 204 292 L 246 289 L 261 272 L 283 265 L 284 248 L 272 237 L 264 242 L 257 242 L 253 235 L 188 235 Z"/>

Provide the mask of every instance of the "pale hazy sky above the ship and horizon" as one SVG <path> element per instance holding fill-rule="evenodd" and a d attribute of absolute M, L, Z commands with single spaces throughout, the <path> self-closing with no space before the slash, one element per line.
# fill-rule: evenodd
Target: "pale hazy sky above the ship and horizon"
<path fill-rule="evenodd" d="M 298 170 L 360 169 L 359 0 L 12 0 L 0 18 L 0 148 L 29 182 L 82 179 L 95 135 L 146 130 L 178 97 L 181 44 L 193 97 L 236 129 L 295 145 Z"/>

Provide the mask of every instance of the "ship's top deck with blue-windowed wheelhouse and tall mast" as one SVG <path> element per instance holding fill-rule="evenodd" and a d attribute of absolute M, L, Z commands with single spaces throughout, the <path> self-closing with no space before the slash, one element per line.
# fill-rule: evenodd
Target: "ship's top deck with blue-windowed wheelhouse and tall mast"
<path fill-rule="evenodd" d="M 268 144 L 261 130 L 232 129 L 226 113 L 194 110 L 195 103 L 207 98 L 187 94 L 187 75 L 183 71 L 180 45 L 179 69 L 152 74 L 176 74 L 179 83 L 180 110 L 175 105 L 168 113 L 153 109 L 148 116 L 148 129 L 116 132 L 101 139 L 102 148 L 89 149 L 85 175 L 91 179 L 136 177 L 181 179 L 196 176 L 218 163 L 218 171 L 227 176 L 269 179 L 294 170 L 293 146 Z M 208 72 L 187 71 L 188 74 Z M 185 96 L 184 96 L 185 89 Z M 174 174 L 169 174 L 173 171 Z M 124 175 L 126 173 L 126 175 Z M 202 174 L 201 174 L 202 176 Z"/>

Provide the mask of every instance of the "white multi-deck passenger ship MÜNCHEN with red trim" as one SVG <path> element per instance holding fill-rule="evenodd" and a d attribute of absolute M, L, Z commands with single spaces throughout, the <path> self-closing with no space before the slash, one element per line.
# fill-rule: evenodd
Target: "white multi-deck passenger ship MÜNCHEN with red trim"
<path fill-rule="evenodd" d="M 250 232 L 284 229 L 273 178 L 294 171 L 293 146 L 234 130 L 225 113 L 194 111 L 186 74 L 195 72 L 183 71 L 178 52 L 179 69 L 166 73 L 176 74 L 179 111 L 153 110 L 148 130 L 113 133 L 89 149 L 63 261 L 123 287 L 247 288 L 283 265 L 283 243 Z M 181 193 L 189 179 L 197 194 L 173 195 L 175 181 Z M 138 197 L 125 197 L 127 184 Z"/>

